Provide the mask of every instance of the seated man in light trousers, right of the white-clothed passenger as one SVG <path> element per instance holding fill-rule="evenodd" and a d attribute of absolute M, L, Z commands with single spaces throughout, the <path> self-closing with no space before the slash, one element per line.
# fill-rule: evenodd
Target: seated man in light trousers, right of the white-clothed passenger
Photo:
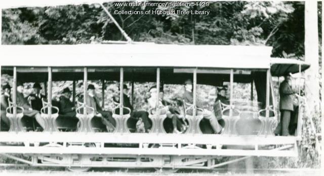
<path fill-rule="evenodd" d="M 183 99 L 186 103 L 193 104 L 192 81 L 190 79 L 186 80 L 184 86 L 185 86 L 185 92 L 183 94 Z M 214 133 L 219 134 L 222 132 L 222 127 L 218 124 L 214 112 L 204 109 L 204 118 L 209 120 L 214 130 Z"/>

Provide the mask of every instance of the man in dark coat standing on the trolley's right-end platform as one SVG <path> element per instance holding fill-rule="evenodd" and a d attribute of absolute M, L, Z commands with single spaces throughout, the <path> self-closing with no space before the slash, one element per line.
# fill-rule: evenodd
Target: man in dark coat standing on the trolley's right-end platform
<path fill-rule="evenodd" d="M 292 89 L 292 80 L 290 74 L 285 76 L 285 80 L 280 83 L 279 86 L 279 109 L 280 109 L 280 122 L 275 129 L 276 135 L 288 136 L 289 135 L 289 123 L 291 113 L 294 111 L 294 94 Z"/>

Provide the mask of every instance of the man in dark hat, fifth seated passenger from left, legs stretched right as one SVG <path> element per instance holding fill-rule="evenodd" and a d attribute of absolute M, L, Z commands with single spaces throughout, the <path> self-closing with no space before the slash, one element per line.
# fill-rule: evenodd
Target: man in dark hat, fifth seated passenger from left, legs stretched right
<path fill-rule="evenodd" d="M 100 106 L 100 102 L 96 97 L 95 93 L 95 86 L 93 84 L 88 85 L 88 94 L 87 94 L 87 105 L 94 108 L 96 116 L 102 118 L 102 123 L 110 128 L 116 127 L 116 122 L 112 118 L 112 112 L 102 110 Z"/>

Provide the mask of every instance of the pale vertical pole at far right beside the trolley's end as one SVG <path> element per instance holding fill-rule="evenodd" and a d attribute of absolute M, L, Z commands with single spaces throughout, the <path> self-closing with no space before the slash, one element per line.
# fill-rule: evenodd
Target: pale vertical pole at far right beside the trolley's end
<path fill-rule="evenodd" d="M 317 1 L 305 1 L 305 61 L 311 64 L 305 72 L 305 93 L 311 112 L 319 109 L 318 58 Z"/>

